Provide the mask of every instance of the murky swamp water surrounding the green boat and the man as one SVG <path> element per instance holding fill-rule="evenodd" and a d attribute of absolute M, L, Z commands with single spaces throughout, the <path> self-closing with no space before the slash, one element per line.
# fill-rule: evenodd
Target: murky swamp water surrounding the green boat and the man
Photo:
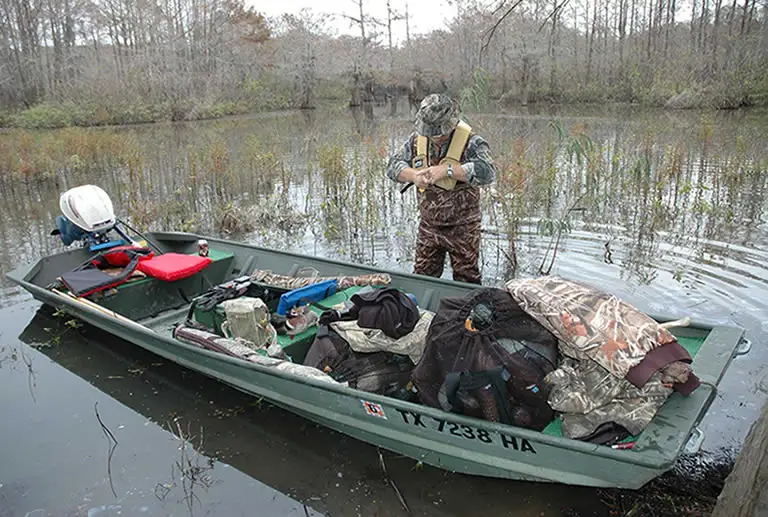
<path fill-rule="evenodd" d="M 737 450 L 768 396 L 768 116 L 603 109 L 470 122 L 502 170 L 483 200 L 484 282 L 550 269 L 653 313 L 744 327 L 753 350 L 733 362 L 701 424 L 706 454 Z M 382 158 L 409 131 L 406 114 L 329 108 L 99 131 L 135 146 L 130 164 L 5 183 L 0 270 L 61 247 L 48 235 L 58 194 L 86 181 L 142 228 L 411 267 L 413 193 L 383 178 Z M 554 261 L 552 227 L 563 229 Z M 375 449 L 71 328 L 2 282 L 0 515 L 403 513 Z M 96 402 L 118 442 L 117 496 Z M 591 489 L 387 462 L 417 515 L 608 511 Z"/>

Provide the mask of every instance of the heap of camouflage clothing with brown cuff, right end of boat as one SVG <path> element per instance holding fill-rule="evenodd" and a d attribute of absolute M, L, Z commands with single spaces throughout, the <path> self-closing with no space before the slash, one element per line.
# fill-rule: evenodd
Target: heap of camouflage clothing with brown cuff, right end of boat
<path fill-rule="evenodd" d="M 610 422 L 639 434 L 673 391 L 699 386 L 675 336 L 615 296 L 554 276 L 505 287 L 558 338 L 564 359 L 546 381 L 563 435 L 582 438 Z"/>

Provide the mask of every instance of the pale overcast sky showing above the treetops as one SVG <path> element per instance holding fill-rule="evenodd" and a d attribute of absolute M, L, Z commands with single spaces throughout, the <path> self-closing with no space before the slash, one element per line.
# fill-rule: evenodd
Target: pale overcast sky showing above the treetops
<path fill-rule="evenodd" d="M 405 13 L 406 0 L 390 0 L 392 9 Z M 283 13 L 298 13 L 302 8 L 310 8 L 316 13 L 329 15 L 347 13 L 355 16 L 358 13 L 357 0 L 247 0 L 257 11 L 268 17 L 279 16 Z M 386 22 L 386 0 L 363 0 L 364 12 Z M 411 35 L 423 34 L 440 28 L 447 20 L 453 18 L 455 7 L 449 6 L 445 0 L 408 0 Z M 341 16 L 329 17 L 329 26 L 336 33 L 359 34 L 359 29 L 350 27 L 350 21 Z M 379 29 L 386 40 L 386 27 Z M 405 40 L 405 21 L 393 23 L 392 35 L 396 41 Z"/>

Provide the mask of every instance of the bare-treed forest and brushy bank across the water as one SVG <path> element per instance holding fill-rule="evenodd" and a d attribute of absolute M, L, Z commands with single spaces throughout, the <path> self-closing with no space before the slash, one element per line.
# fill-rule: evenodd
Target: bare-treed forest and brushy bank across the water
<path fill-rule="evenodd" d="M 450 22 L 424 35 L 410 34 L 405 0 L 381 1 L 385 19 L 344 0 L 337 16 L 355 35 L 334 35 L 325 14 L 267 19 L 243 0 L 0 0 L 0 125 L 194 120 L 323 99 L 394 108 L 436 90 L 475 109 L 768 104 L 765 0 L 452 0 Z"/>

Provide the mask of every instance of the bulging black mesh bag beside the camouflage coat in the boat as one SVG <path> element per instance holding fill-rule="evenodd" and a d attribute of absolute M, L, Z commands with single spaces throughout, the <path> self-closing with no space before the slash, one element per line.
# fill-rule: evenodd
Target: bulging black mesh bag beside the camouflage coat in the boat
<path fill-rule="evenodd" d="M 557 338 L 509 293 L 479 288 L 440 300 L 412 380 L 428 406 L 541 430 L 556 366 Z"/>

